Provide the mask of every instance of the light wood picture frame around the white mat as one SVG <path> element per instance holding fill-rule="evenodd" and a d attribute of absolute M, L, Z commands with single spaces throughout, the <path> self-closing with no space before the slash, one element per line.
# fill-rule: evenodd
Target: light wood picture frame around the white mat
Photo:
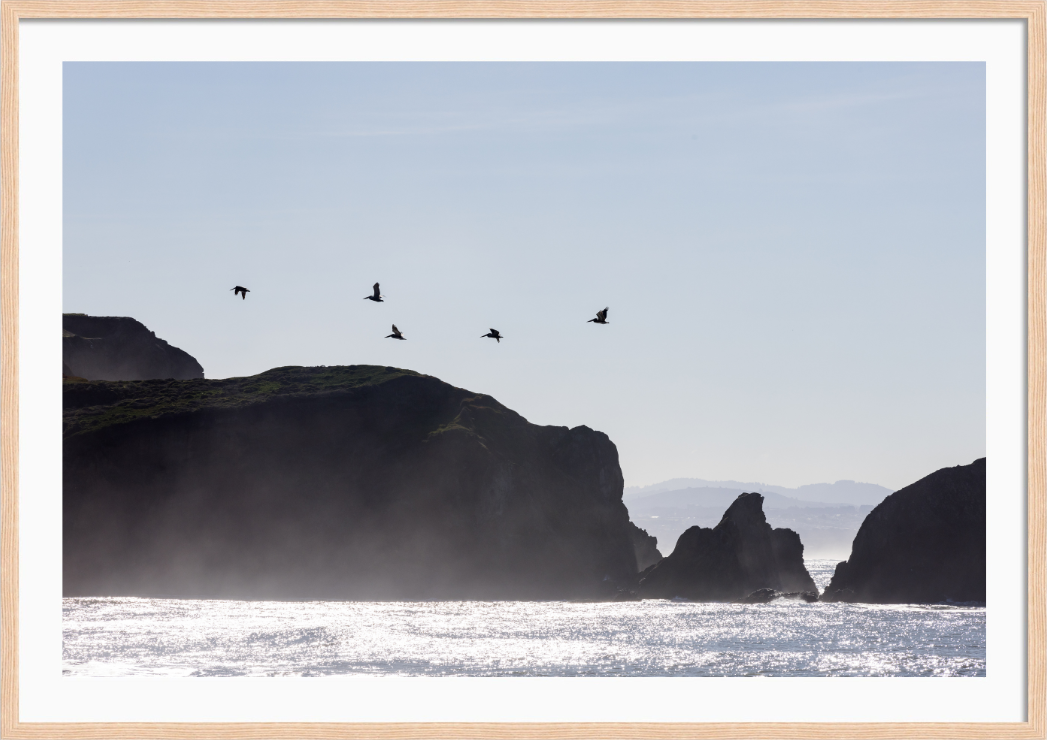
<path fill-rule="evenodd" d="M 1028 44 L 1027 721 L 19 721 L 18 23 L 23 18 L 1024 19 Z M 1047 0 L 3 0 L 0 46 L 0 738 L 1047 738 Z"/>

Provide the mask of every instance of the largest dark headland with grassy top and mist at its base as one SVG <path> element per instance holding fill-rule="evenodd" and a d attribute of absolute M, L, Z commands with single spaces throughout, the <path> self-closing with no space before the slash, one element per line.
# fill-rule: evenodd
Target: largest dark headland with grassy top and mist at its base
<path fill-rule="evenodd" d="M 618 450 L 392 367 L 65 387 L 64 592 L 595 598 L 634 578 Z"/>

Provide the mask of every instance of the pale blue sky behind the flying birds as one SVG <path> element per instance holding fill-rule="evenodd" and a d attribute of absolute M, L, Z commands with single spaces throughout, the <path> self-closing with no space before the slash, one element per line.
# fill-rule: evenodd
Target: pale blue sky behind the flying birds
<path fill-rule="evenodd" d="M 985 454 L 983 64 L 65 63 L 63 116 L 63 310 L 207 378 L 410 368 L 627 486 Z"/>

